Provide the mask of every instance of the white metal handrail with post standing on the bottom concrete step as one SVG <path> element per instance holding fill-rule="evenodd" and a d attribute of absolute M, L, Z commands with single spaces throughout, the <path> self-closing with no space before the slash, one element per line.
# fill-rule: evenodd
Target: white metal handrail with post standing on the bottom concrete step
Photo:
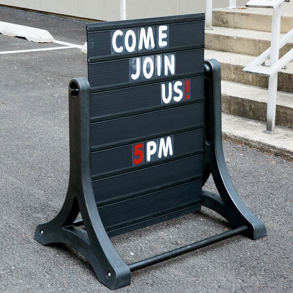
<path fill-rule="evenodd" d="M 284 1 L 289 2 L 290 0 L 250 0 L 246 3 L 247 7 L 273 8 L 271 47 L 258 56 L 252 63 L 243 68 L 244 72 L 269 76 L 267 128 L 265 130 L 266 133 L 272 133 L 275 126 L 278 71 L 293 60 L 293 49 L 291 49 L 282 58 L 279 59 L 280 48 L 293 39 L 293 29 L 291 29 L 280 40 L 280 10 L 281 4 Z M 260 65 L 264 63 L 268 57 L 270 57 L 270 67 L 260 67 Z"/>

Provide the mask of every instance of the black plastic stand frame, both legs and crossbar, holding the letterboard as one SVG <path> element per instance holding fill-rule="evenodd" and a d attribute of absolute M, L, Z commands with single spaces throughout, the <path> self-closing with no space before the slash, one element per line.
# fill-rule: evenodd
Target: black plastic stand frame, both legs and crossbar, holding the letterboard
<path fill-rule="evenodd" d="M 190 19 L 190 17 L 187 16 L 186 19 Z M 173 17 L 173 20 L 178 19 L 185 20 L 185 17 Z M 149 21 L 151 23 L 157 23 L 156 21 L 165 23 L 170 20 L 172 18 L 159 18 Z M 135 22 L 120 21 L 118 23 L 121 26 L 126 24 L 127 28 L 133 27 Z M 111 25 L 116 28 L 117 22 L 109 23 L 109 26 Z M 202 33 L 204 34 L 204 31 Z M 96 57 L 93 60 L 99 62 Z M 216 211 L 227 219 L 231 230 L 149 259 L 126 264 L 109 239 L 109 233 L 105 229 L 100 211 L 97 208 L 92 181 L 91 95 L 98 90 L 104 91 L 109 88 L 108 85 L 90 86 L 86 79 L 77 78 L 71 80 L 69 84 L 70 175 L 67 195 L 59 214 L 51 221 L 38 225 L 35 232 L 35 239 L 38 242 L 43 245 L 54 243 L 70 245 L 85 256 L 100 282 L 110 289 L 118 289 L 130 284 L 130 272 L 146 266 L 234 235 L 243 234 L 251 239 L 267 235 L 264 223 L 240 199 L 226 167 L 221 136 L 220 64 L 216 60 L 205 61 L 202 72 L 204 74 L 205 95 L 200 200 L 202 206 Z M 141 81 L 137 84 L 145 85 L 147 82 Z M 117 88 L 119 86 L 114 85 L 111 90 Z M 115 119 L 115 115 L 113 117 Z M 135 143 L 139 142 L 135 141 Z M 213 176 L 219 194 L 202 190 L 202 186 L 206 183 L 210 174 Z M 79 213 L 82 215 L 82 220 L 76 220 Z"/>

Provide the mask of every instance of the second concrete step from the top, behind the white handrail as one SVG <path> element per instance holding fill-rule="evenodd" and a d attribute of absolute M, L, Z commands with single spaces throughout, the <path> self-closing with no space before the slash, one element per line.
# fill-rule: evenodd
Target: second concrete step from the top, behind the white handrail
<path fill-rule="evenodd" d="M 210 50 L 259 56 L 271 46 L 271 33 L 213 26 L 205 31 L 205 45 Z M 281 48 L 280 57 L 292 48 L 293 41 Z"/>

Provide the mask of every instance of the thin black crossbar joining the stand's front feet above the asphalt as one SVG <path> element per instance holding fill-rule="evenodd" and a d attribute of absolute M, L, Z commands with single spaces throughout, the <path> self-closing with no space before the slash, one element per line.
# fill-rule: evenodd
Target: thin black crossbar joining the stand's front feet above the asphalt
<path fill-rule="evenodd" d="M 144 260 L 138 261 L 136 263 L 129 264 L 128 268 L 129 268 L 130 272 L 134 272 L 134 271 L 146 268 L 148 266 L 157 264 L 159 262 L 165 261 L 167 259 L 182 255 L 184 253 L 187 253 L 187 252 L 190 252 L 190 251 L 195 251 L 197 249 L 203 248 L 203 247 L 208 246 L 210 244 L 214 244 L 214 243 L 217 243 L 219 241 L 228 239 L 230 237 L 233 237 L 233 236 L 236 236 L 238 234 L 241 234 L 242 232 L 244 232 L 246 230 L 248 230 L 247 226 L 241 226 L 239 228 L 235 228 L 235 229 L 229 230 L 227 232 L 223 232 L 221 234 L 211 236 L 209 238 L 200 240 L 198 242 L 194 242 L 192 244 L 189 244 L 189 245 L 177 248 L 177 249 L 174 249 L 172 251 L 167 251 L 167 252 L 164 252 L 162 254 L 159 254 L 159 255 L 156 255 L 156 256 L 153 256 L 153 257 L 146 258 Z"/>

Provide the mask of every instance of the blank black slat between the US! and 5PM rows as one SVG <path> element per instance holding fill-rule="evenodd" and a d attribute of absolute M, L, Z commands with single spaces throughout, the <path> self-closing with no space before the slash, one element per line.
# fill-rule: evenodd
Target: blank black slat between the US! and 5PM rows
<path fill-rule="evenodd" d="M 91 146 L 202 126 L 203 103 L 91 124 Z M 163 135 L 166 136 L 166 135 Z"/>

